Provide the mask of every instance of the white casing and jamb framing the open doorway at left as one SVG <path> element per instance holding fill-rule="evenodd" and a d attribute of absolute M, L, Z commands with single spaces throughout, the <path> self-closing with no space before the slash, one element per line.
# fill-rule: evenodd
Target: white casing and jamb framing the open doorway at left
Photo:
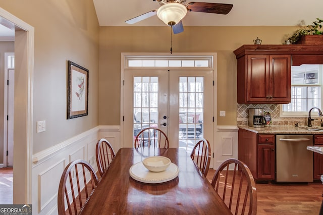
<path fill-rule="evenodd" d="M 13 203 L 32 203 L 32 83 L 34 28 L 0 8 L 0 24 L 15 31 Z"/>

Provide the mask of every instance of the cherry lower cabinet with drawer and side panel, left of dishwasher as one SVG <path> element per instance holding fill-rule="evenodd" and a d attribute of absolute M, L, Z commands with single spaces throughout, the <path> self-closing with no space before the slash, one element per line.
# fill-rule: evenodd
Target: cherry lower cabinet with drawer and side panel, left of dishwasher
<path fill-rule="evenodd" d="M 238 159 L 249 167 L 255 180 L 274 180 L 275 134 L 239 129 Z"/>

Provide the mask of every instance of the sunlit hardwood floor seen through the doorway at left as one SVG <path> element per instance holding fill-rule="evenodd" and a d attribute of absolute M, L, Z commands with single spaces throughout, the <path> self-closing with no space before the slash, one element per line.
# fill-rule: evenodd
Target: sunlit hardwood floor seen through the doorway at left
<path fill-rule="evenodd" d="M 13 168 L 0 168 L 0 204 L 13 203 Z"/>

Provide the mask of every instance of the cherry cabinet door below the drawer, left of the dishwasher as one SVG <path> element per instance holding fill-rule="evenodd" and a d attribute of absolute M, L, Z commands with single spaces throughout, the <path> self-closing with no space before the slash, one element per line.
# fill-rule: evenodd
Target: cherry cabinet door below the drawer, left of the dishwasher
<path fill-rule="evenodd" d="M 258 179 L 275 179 L 275 145 L 258 145 Z"/>

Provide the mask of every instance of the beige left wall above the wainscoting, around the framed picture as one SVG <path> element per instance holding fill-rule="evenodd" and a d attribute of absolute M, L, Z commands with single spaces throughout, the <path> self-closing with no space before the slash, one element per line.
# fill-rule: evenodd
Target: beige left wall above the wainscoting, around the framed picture
<path fill-rule="evenodd" d="M 93 1 L 1 0 L 0 7 L 35 28 L 33 153 L 97 126 L 99 26 Z M 67 120 L 68 60 L 89 70 L 88 116 L 71 120 Z M 36 122 L 41 120 L 46 121 L 46 131 L 36 133 Z"/>

